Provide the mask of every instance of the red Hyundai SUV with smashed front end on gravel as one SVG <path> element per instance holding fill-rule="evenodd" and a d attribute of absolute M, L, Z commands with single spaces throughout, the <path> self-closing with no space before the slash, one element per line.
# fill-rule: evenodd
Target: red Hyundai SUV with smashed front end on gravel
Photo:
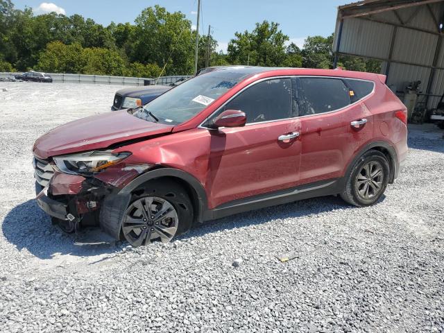
<path fill-rule="evenodd" d="M 264 67 L 197 76 L 37 139 L 37 202 L 67 232 L 96 223 L 133 246 L 314 196 L 373 205 L 407 155 L 407 110 L 384 81 Z"/>

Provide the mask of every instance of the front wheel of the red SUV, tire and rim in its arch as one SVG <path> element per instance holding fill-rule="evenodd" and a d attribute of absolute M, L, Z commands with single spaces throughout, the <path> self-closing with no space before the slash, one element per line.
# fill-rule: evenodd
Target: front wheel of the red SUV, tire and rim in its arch
<path fill-rule="evenodd" d="M 169 179 L 147 182 L 133 191 L 123 214 L 121 232 L 133 247 L 168 243 L 187 232 L 194 211 L 184 187 Z"/>

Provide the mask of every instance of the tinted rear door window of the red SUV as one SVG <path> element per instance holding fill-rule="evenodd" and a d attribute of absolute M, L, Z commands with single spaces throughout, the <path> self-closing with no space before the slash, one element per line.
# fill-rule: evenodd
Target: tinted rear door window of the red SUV
<path fill-rule="evenodd" d="M 307 116 L 339 110 L 350 104 L 350 92 L 340 78 L 296 78 L 296 114 Z"/>

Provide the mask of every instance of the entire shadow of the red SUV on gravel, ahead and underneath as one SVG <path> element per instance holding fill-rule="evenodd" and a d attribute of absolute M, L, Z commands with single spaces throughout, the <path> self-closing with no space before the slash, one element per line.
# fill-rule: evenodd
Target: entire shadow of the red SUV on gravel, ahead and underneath
<path fill-rule="evenodd" d="M 384 198 L 385 196 L 382 196 L 381 200 Z M 300 200 L 195 225 L 190 232 L 178 239 L 200 237 L 212 232 L 259 225 L 273 220 L 309 218 L 323 212 L 349 209 L 356 207 L 347 205 L 335 196 Z M 51 219 L 40 210 L 35 200 L 28 200 L 10 210 L 3 220 L 2 231 L 4 237 L 18 250 L 26 248 L 40 259 L 67 254 L 77 257 L 105 255 L 121 250 L 122 243 L 123 246 L 128 245 L 126 242 L 115 241 L 99 228 L 85 228 L 75 234 L 65 234 L 51 224 Z"/>

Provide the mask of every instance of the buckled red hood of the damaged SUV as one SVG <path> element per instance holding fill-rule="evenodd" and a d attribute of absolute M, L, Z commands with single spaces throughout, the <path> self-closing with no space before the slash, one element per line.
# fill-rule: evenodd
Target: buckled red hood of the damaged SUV
<path fill-rule="evenodd" d="M 169 133 L 173 125 L 152 123 L 126 110 L 71 121 L 37 139 L 33 152 L 40 158 L 107 148 L 118 142 Z"/>

